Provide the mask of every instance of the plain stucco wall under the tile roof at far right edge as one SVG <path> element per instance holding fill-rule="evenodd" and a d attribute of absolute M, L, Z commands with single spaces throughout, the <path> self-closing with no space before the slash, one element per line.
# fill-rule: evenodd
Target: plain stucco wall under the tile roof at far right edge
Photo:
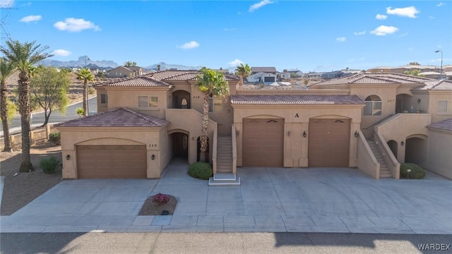
<path fill-rule="evenodd" d="M 429 130 L 428 144 L 428 163 L 422 166 L 452 179 L 452 131 Z"/>

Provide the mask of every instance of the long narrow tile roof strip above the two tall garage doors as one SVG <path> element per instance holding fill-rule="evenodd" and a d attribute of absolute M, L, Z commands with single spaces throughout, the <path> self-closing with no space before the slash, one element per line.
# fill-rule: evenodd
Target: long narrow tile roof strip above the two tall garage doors
<path fill-rule="evenodd" d="M 231 103 L 242 105 L 364 104 L 356 95 L 232 95 Z"/>

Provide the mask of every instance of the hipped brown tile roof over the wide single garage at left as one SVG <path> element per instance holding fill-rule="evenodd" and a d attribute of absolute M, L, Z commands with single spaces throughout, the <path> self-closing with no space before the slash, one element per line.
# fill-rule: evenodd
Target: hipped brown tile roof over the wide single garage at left
<path fill-rule="evenodd" d="M 160 127 L 169 122 L 130 109 L 113 109 L 94 116 L 86 116 L 58 123 L 56 127 Z"/>

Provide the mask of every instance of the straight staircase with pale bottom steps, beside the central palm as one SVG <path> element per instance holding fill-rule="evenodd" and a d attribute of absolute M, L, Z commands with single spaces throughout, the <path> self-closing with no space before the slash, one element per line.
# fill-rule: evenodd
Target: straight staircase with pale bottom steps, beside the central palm
<path fill-rule="evenodd" d="M 217 174 L 209 179 L 209 186 L 240 186 L 240 178 L 232 174 L 232 137 L 219 135 L 217 142 Z"/>

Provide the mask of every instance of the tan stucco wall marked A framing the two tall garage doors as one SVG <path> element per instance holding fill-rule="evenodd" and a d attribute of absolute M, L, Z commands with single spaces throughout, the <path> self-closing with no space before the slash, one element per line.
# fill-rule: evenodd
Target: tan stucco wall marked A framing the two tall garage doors
<path fill-rule="evenodd" d="M 242 166 L 243 153 L 243 119 L 258 118 L 268 119 L 279 117 L 284 119 L 284 167 L 307 167 L 308 166 L 308 143 L 309 143 L 309 119 L 351 119 L 350 128 L 350 158 L 349 167 L 357 167 L 357 138 L 355 131 L 359 131 L 362 105 L 347 106 L 299 106 L 299 107 L 234 107 L 234 126 L 237 135 L 237 166 Z M 290 132 L 290 135 L 287 133 Z M 303 137 L 303 132 L 307 137 Z M 264 137 L 263 137 L 264 138 Z"/>

